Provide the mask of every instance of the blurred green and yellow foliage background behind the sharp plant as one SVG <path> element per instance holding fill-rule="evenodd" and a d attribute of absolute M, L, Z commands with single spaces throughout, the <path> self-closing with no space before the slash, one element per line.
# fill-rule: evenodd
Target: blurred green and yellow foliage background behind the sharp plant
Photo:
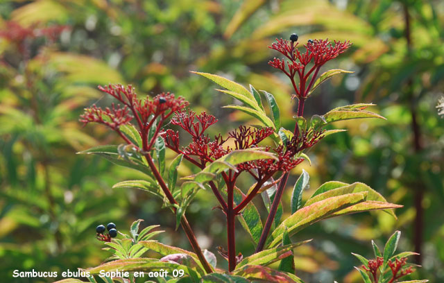
<path fill-rule="evenodd" d="M 49 27 L 65 26 L 58 32 Z M 343 121 L 348 132 L 323 139 L 313 166 L 293 170 L 287 194 L 304 168 L 311 188 L 328 180 L 365 182 L 397 209 L 398 220 L 372 212 L 332 218 L 295 238 L 297 274 L 307 282 L 360 282 L 358 252 L 401 230 L 399 250 L 416 250 L 416 277 L 444 282 L 444 120 L 436 104 L 444 87 L 444 2 L 425 0 L 39 0 L 0 3 L 0 277 L 12 271 L 73 271 L 108 257 L 94 228 L 110 221 L 127 230 L 137 218 L 167 230 L 163 243 L 189 249 L 174 232 L 168 209 L 143 191 L 111 189 L 142 178 L 76 152 L 121 141 L 102 126 L 82 128 L 78 115 L 111 99 L 99 84 L 130 83 L 140 96 L 169 91 L 218 119 L 211 134 L 255 123 L 221 108 L 231 98 L 214 91 L 207 71 L 273 93 L 282 123 L 293 128 L 291 87 L 267 62 L 275 37 L 350 40 L 324 67 L 336 76 L 306 103 L 307 116 L 356 102 L 377 103 L 387 121 Z M 173 153 L 169 153 L 170 158 Z M 189 174 L 184 162 L 180 175 Z M 308 190 L 308 197 L 312 191 Z M 289 198 L 283 198 L 288 200 Z M 203 248 L 225 246 L 223 214 L 207 191 L 187 211 Z M 284 213 L 289 213 L 289 203 Z M 287 209 L 286 209 L 287 208 Z M 253 246 L 237 229 L 237 249 Z M 217 255 L 219 264 L 225 262 Z M 226 265 L 226 264 L 225 264 Z M 48 280 L 49 282 L 52 280 Z"/>

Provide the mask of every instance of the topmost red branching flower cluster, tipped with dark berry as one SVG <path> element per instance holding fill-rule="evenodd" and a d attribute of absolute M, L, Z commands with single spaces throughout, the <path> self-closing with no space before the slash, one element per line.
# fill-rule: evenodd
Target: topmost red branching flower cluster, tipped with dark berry
<path fill-rule="evenodd" d="M 298 96 L 298 98 L 305 98 L 314 83 L 319 69 L 321 69 L 325 62 L 345 52 L 351 46 L 351 43 L 349 41 L 339 42 L 335 40 L 334 45 L 332 45 L 328 40 L 309 40 L 309 42 L 304 45 L 306 49 L 305 53 L 301 53 L 297 49 L 297 46 L 298 43 L 293 42 L 293 40 L 276 39 L 276 42 L 268 46 L 268 48 L 279 51 L 287 57 L 288 60 L 273 58 L 268 64 L 276 69 L 280 69 L 286 74 L 293 84 L 296 96 Z M 309 70 L 306 70 L 305 68 L 310 62 L 313 62 L 313 65 Z M 305 71 L 307 71 L 307 73 Z M 296 74 L 299 76 L 299 85 L 296 85 L 295 82 Z M 311 74 L 313 74 L 313 76 L 311 76 L 311 80 L 309 80 Z"/>

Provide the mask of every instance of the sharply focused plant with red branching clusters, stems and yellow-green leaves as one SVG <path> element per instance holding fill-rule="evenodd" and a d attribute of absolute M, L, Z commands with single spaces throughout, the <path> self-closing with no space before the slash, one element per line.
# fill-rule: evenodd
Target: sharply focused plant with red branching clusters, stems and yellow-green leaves
<path fill-rule="evenodd" d="M 303 160 L 309 160 L 305 151 L 323 137 L 341 131 L 325 130 L 327 124 L 345 119 L 384 119 L 366 110 L 373 104 L 360 103 L 335 108 L 322 116 L 314 115 L 307 121 L 303 117 L 304 105 L 314 90 L 336 74 L 350 73 L 341 69 L 332 69 L 318 76 L 319 71 L 326 62 L 345 52 L 351 44 L 309 40 L 304 45 L 305 50 L 300 51 L 297 41 L 298 35 L 293 34 L 290 40 L 280 39 L 269 46 L 284 55 L 283 59 L 274 58 L 269 64 L 288 76 L 295 92 L 291 99 L 297 98 L 298 101 L 295 126 L 291 130 L 281 128 L 280 110 L 273 94 L 262 91 L 270 108 L 270 116 L 262 104 L 261 94 L 252 85 L 248 90 L 221 76 L 199 72 L 194 73 L 213 80 L 224 88 L 218 89 L 219 92 L 243 103 L 243 105 L 228 105 L 225 108 L 246 112 L 260 121 L 262 126 L 255 128 L 240 126 L 228 132 L 228 135 L 219 134 L 210 137 L 205 131 L 217 122 L 213 115 L 206 112 L 197 114 L 193 110 L 185 109 L 189 103 L 184 98 L 170 93 L 139 99 L 135 89 L 130 85 L 99 87 L 101 91 L 116 98 L 121 105 L 112 104 L 111 108 L 105 109 L 94 105 L 92 108 L 87 108 L 85 114 L 81 116 L 80 121 L 83 123 L 102 123 L 117 132 L 126 142 L 119 146 L 91 148 L 83 153 L 102 155 L 116 164 L 137 169 L 147 175 L 146 180 L 120 182 L 114 187 L 145 189 L 159 196 L 164 205 L 170 207 L 176 214 L 176 225 L 182 226 L 194 250 L 194 253 L 183 251 L 194 259 L 198 266 L 191 268 L 196 274 L 189 274 L 194 279 L 210 276 L 208 274 L 215 272 L 215 264 L 208 262 L 211 252 L 203 252 L 200 249 L 185 216 L 187 206 L 199 189 L 208 187 L 212 190 L 219 202 L 219 208 L 227 219 L 227 250 L 219 250 L 219 253 L 228 259 L 231 275 L 226 276 L 239 275 L 269 281 L 284 278 L 285 282 L 301 282 L 295 276 L 292 264 L 284 264 L 284 261 L 288 259 L 293 261 L 291 258 L 293 248 L 304 243 L 291 243 L 291 235 L 307 225 L 323 218 L 373 209 L 384 209 L 394 216 L 393 208 L 400 207 L 387 203 L 384 197 L 362 183 L 349 185 L 343 182 L 327 182 L 321 185 L 309 200 L 302 203 L 302 191 L 307 187 L 309 179 L 307 172 L 304 171 L 293 189 L 291 216 L 283 221 L 275 218 L 278 209 L 282 209 L 281 198 L 291 169 Z M 185 130 L 191 136 L 191 143 L 182 145 L 178 131 L 165 129 L 164 124 L 168 120 Z M 273 146 L 262 146 L 261 143 L 265 139 L 271 139 Z M 178 154 L 168 171 L 165 166 L 166 148 Z M 185 182 L 178 189 L 176 188 L 177 167 L 182 159 L 197 166 L 200 172 L 183 178 Z M 241 174 L 248 174 L 255 180 L 248 190 L 237 187 L 237 180 Z M 264 226 L 257 208 L 252 203 L 253 198 L 258 195 L 262 196 L 268 209 Z M 241 253 L 237 254 L 234 237 L 236 218 L 250 234 L 257 247 L 254 255 L 244 257 Z M 273 224 L 275 229 L 272 231 Z M 148 245 L 148 243 L 141 244 Z M 153 248 L 155 244 L 150 242 L 149 245 Z M 169 249 L 167 255 L 178 251 L 174 247 Z M 159 252 L 162 249 L 153 248 L 153 250 Z M 162 251 L 161 255 L 166 256 L 164 250 Z M 281 259 L 279 271 L 266 267 Z M 150 268 L 159 268 L 162 266 L 160 262 L 151 267 L 144 265 L 142 269 L 146 271 L 152 270 Z M 121 261 L 119 269 L 124 270 L 127 264 Z"/>

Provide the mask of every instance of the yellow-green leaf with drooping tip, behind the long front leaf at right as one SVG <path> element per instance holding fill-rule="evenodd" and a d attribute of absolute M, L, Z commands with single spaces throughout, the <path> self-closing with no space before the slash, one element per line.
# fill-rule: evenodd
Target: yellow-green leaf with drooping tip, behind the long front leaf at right
<path fill-rule="evenodd" d="M 330 188 L 334 187 L 333 185 L 330 186 Z M 338 187 L 336 189 L 330 189 L 327 190 L 327 188 L 324 188 L 324 192 L 322 194 L 317 194 L 316 196 L 312 196 L 311 198 L 309 198 L 309 200 L 307 200 L 307 203 L 305 203 L 305 206 L 307 205 L 311 205 L 312 203 L 316 203 L 319 200 L 324 200 L 325 198 L 330 198 L 332 196 L 341 196 L 343 194 L 351 194 L 351 193 L 357 193 L 360 191 L 367 191 L 367 200 L 366 201 L 370 201 L 373 200 L 375 202 L 378 203 L 367 203 L 367 204 L 359 204 L 357 207 L 355 207 L 354 209 L 356 209 L 356 212 L 361 212 L 363 210 L 360 209 L 364 209 L 365 211 L 365 207 L 366 205 L 369 206 L 369 208 L 372 206 L 373 204 L 373 209 L 381 209 L 381 208 L 377 208 L 378 205 L 382 205 L 381 203 L 387 203 L 387 200 L 381 195 L 379 194 L 377 191 L 375 191 L 374 189 L 368 187 L 368 185 L 361 183 L 361 182 L 355 182 L 352 185 L 346 185 L 343 187 Z M 316 192 L 315 192 L 316 194 Z M 393 207 L 400 207 L 397 205 L 390 205 Z M 353 208 L 349 207 L 348 209 L 353 210 Z M 384 210 L 384 212 L 387 212 L 388 214 L 390 214 L 391 216 L 395 217 L 395 212 L 393 212 L 393 210 Z"/>

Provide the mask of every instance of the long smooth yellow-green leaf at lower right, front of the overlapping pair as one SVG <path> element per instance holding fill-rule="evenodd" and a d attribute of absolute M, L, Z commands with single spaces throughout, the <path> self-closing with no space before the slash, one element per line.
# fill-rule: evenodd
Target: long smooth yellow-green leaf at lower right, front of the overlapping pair
<path fill-rule="evenodd" d="M 334 212 L 339 212 L 341 209 L 345 209 L 357 203 L 361 203 L 366 200 L 366 192 L 345 194 L 343 196 L 334 196 L 325 200 L 318 201 L 307 207 L 302 207 L 297 212 L 291 214 L 285 219 L 268 238 L 269 247 L 274 247 L 282 241 L 282 237 L 285 228 L 288 229 L 289 235 L 296 234 L 296 232 L 303 228 L 316 223 L 317 221 L 327 218 Z"/>

